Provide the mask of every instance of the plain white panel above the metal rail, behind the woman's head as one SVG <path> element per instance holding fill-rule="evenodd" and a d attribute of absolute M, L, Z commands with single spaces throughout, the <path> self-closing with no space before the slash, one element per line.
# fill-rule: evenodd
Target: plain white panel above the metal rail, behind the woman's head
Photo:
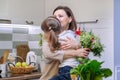
<path fill-rule="evenodd" d="M 52 15 L 58 5 L 69 6 L 77 21 L 110 18 L 113 15 L 113 0 L 45 0 L 45 16 Z M 53 4 L 54 3 L 54 4 Z"/>

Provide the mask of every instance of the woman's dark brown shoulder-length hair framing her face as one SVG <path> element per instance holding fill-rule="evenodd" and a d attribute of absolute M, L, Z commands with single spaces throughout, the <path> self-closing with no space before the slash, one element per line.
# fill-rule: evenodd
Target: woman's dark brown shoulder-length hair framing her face
<path fill-rule="evenodd" d="M 75 17 L 73 15 L 72 10 L 69 7 L 67 7 L 67 6 L 58 6 L 57 8 L 54 9 L 53 15 L 54 15 L 55 11 L 60 10 L 60 9 L 64 10 L 68 17 L 72 18 L 72 21 L 71 21 L 68 29 L 73 30 L 73 31 L 76 30 L 77 29 L 76 20 L 75 20 Z"/>

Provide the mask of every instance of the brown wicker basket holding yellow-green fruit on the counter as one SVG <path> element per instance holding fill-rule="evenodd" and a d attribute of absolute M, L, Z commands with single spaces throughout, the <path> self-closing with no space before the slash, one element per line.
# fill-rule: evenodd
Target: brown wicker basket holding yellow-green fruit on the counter
<path fill-rule="evenodd" d="M 13 63 L 8 63 L 8 66 L 11 73 L 25 74 L 25 73 L 31 73 L 35 69 L 35 66 L 31 66 L 32 63 L 35 65 L 34 62 L 31 62 L 28 67 L 16 67 L 15 64 Z"/>

